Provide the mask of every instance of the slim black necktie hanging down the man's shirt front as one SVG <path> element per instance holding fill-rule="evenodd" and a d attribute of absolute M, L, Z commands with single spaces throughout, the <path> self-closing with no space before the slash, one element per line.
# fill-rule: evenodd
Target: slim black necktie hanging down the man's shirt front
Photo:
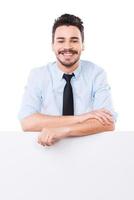
<path fill-rule="evenodd" d="M 63 92 L 63 115 L 74 115 L 73 91 L 70 83 L 73 76 L 74 74 L 63 74 L 66 80 Z"/>

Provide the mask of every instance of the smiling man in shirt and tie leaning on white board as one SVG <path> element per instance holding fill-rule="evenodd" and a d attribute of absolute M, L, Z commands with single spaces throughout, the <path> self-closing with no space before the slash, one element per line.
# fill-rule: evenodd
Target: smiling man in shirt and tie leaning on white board
<path fill-rule="evenodd" d="M 40 131 L 38 142 L 53 145 L 65 137 L 113 131 L 116 114 L 104 70 L 80 60 L 84 27 L 79 17 L 55 20 L 52 49 L 56 62 L 29 75 L 19 119 L 24 131 Z"/>

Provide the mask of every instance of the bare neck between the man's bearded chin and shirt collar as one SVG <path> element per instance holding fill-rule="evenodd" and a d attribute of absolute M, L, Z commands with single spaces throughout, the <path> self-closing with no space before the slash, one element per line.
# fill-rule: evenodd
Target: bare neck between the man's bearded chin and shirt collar
<path fill-rule="evenodd" d="M 63 71 L 64 73 L 71 74 L 79 66 L 79 61 L 77 63 L 75 63 L 74 65 L 72 65 L 71 67 L 66 67 L 66 66 L 62 65 L 59 61 L 57 61 L 57 65 L 60 68 L 60 70 Z"/>

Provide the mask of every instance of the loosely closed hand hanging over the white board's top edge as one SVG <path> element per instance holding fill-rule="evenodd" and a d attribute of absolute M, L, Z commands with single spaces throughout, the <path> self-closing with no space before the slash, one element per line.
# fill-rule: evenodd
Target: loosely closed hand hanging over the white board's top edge
<path fill-rule="evenodd" d="M 51 146 L 59 140 L 67 137 L 68 128 L 43 128 L 38 137 L 38 143 L 43 146 Z"/>

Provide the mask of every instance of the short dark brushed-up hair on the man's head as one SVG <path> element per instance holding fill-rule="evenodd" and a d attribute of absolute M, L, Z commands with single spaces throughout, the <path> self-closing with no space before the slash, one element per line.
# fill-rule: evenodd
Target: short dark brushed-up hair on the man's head
<path fill-rule="evenodd" d="M 55 20 L 53 28 L 52 28 L 52 42 L 54 42 L 54 34 L 56 31 L 56 28 L 58 28 L 59 26 L 64 26 L 64 25 L 76 26 L 80 30 L 82 42 L 84 42 L 83 21 L 79 17 L 76 17 L 75 15 L 70 15 L 70 14 L 61 15 Z"/>

